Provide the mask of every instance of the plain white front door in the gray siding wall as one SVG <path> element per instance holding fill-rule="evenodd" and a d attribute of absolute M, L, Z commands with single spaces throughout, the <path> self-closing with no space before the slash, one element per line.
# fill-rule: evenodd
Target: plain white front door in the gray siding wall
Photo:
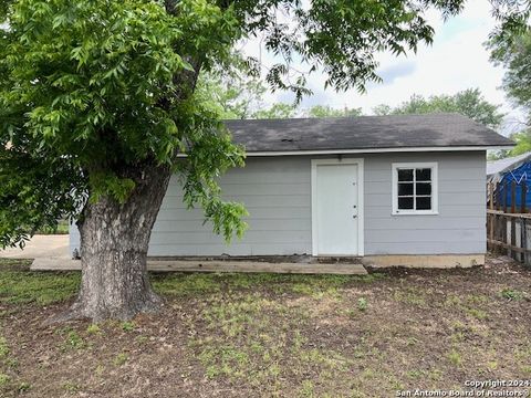
<path fill-rule="evenodd" d="M 327 163 L 329 161 L 329 163 Z M 314 160 L 313 252 L 360 254 L 360 164 Z"/>

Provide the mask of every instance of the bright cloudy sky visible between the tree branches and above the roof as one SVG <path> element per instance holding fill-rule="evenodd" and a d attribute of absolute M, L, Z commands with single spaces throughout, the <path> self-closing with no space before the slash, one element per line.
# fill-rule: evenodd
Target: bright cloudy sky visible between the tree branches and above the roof
<path fill-rule="evenodd" d="M 490 11 L 488 0 L 468 1 L 459 15 L 446 22 L 438 12 L 429 11 L 426 17 L 436 32 L 431 45 L 423 44 L 417 53 L 410 52 L 405 56 L 379 54 L 377 73 L 383 82 L 369 83 L 365 94 L 355 90 L 345 93 L 336 93 L 332 88 L 325 91 L 325 77 L 314 74 L 310 77 L 314 95 L 304 98 L 302 107 L 315 104 L 361 107 L 364 114 L 372 114 L 373 107 L 378 104 L 396 106 L 413 94 L 455 94 L 479 87 L 487 101 L 502 106 L 502 112 L 507 113 L 503 133 L 511 133 L 518 128 L 516 121 L 521 118 L 521 113 L 513 109 L 506 98 L 500 87 L 504 71 L 489 61 L 489 51 L 483 45 L 496 25 Z M 263 50 L 260 52 L 259 41 L 248 42 L 243 51 L 248 55 L 261 55 L 264 64 L 273 61 Z M 266 102 L 291 102 L 292 98 L 289 93 L 274 93 L 268 94 Z"/>

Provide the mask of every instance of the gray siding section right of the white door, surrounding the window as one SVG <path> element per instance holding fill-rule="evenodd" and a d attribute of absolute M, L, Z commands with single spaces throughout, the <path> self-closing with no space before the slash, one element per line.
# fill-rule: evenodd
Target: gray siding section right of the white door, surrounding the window
<path fill-rule="evenodd" d="M 365 156 L 365 254 L 486 251 L 485 151 Z M 438 163 L 439 213 L 392 216 L 392 164 Z"/>

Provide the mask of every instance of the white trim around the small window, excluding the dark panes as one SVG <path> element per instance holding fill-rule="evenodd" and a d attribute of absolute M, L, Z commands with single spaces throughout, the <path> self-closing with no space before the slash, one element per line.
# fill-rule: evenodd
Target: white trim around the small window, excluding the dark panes
<path fill-rule="evenodd" d="M 398 210 L 398 169 L 430 168 L 431 169 L 431 210 Z M 393 174 L 393 216 L 434 216 L 439 213 L 439 177 L 437 161 L 429 163 L 394 163 Z"/>

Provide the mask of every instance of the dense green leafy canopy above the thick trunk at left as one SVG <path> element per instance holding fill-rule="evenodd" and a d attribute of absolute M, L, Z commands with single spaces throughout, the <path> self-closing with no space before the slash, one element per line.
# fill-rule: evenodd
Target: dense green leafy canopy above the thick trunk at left
<path fill-rule="evenodd" d="M 94 202 L 126 201 L 131 168 L 145 164 L 179 167 L 185 200 L 200 203 L 217 231 L 242 232 L 244 211 L 220 200 L 215 177 L 242 165 L 243 153 L 212 133 L 221 129 L 219 115 L 194 95 L 198 63 L 222 64 L 241 38 L 238 15 L 208 1 L 170 11 L 135 0 L 8 4 L 0 35 L 2 245 L 75 216 L 86 193 Z M 187 154 L 185 165 L 178 153 Z"/>

